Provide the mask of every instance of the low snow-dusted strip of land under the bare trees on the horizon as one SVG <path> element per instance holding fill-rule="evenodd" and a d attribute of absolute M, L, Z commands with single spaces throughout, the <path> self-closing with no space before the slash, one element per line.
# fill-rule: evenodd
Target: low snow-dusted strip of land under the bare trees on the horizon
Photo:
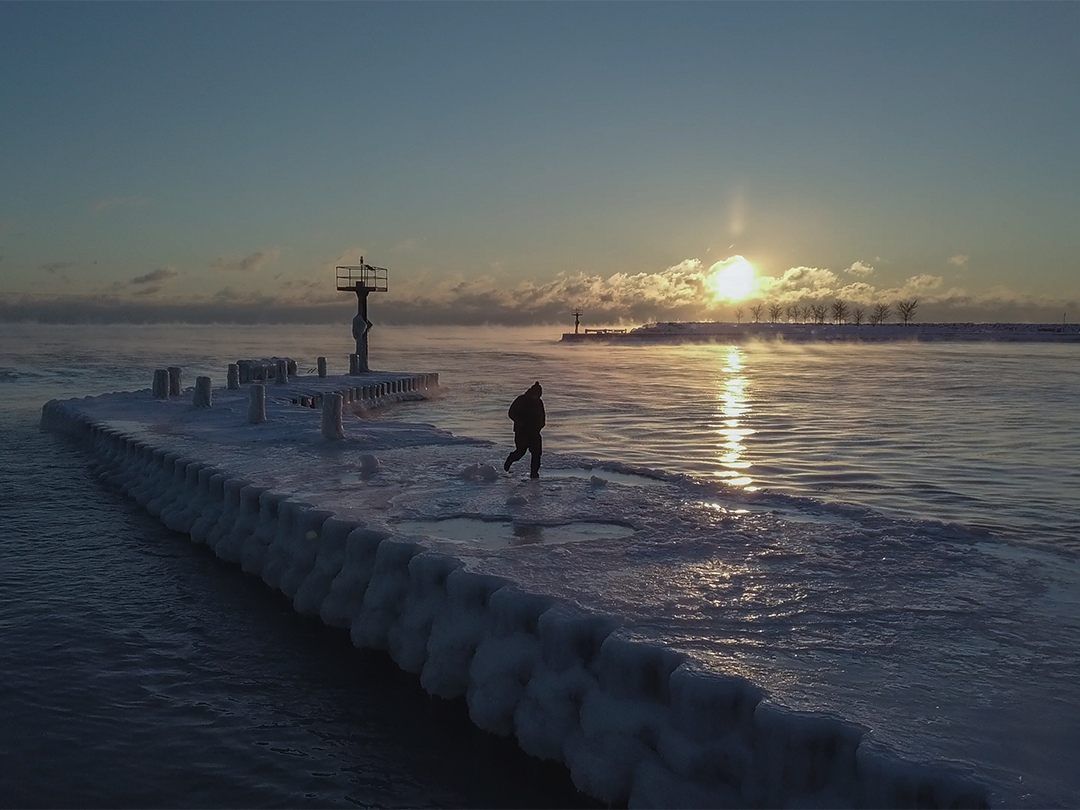
<path fill-rule="evenodd" d="M 1000 341 L 1080 343 L 1080 324 L 1036 323 L 920 323 L 819 324 L 819 323 L 719 323 L 667 322 L 627 329 L 568 332 L 563 342 L 715 342 L 743 340 L 885 342 Z"/>

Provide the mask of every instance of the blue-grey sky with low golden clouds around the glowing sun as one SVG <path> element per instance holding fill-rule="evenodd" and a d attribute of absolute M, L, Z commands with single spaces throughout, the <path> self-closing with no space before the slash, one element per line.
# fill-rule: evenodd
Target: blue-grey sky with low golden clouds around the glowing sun
<path fill-rule="evenodd" d="M 1080 321 L 1080 3 L 0 3 L 0 320 Z"/>

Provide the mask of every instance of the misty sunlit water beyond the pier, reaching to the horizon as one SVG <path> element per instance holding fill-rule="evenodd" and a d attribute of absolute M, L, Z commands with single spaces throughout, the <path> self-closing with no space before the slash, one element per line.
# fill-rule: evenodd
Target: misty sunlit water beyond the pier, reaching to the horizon
<path fill-rule="evenodd" d="M 387 418 L 505 444 L 505 409 L 544 383 L 545 450 L 739 489 L 957 522 L 1012 542 L 1080 550 L 1080 349 L 1024 343 L 562 345 L 558 327 L 376 327 L 372 366 L 435 370 L 446 395 Z M 147 388 L 185 367 L 281 354 L 348 365 L 347 327 L 41 326 L 0 339 L 0 395 Z"/>

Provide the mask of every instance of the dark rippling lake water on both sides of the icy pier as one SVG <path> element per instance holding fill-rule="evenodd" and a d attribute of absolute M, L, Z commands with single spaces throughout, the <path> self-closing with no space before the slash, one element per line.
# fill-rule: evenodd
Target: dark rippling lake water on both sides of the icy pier
<path fill-rule="evenodd" d="M 1037 799 L 1065 804 L 1062 768 L 1030 752 L 1080 743 L 1067 675 L 1080 666 L 1080 349 L 561 346 L 554 332 L 377 329 L 374 365 L 437 370 L 447 387 L 436 402 L 379 418 L 431 421 L 509 450 L 505 408 L 540 379 L 549 453 L 715 482 L 750 510 L 806 521 L 840 523 L 843 504 L 854 504 L 886 527 L 959 524 L 998 561 L 1000 570 L 978 576 L 1000 578 L 1005 602 L 983 611 L 999 630 L 980 634 L 987 649 L 950 657 L 948 672 L 895 691 L 994 667 L 1007 673 L 996 690 L 1023 678 L 1016 705 L 1001 706 L 997 691 L 984 699 L 987 712 L 1015 714 L 1009 723 L 1030 738 L 998 756 L 1037 783 Z M 220 379 L 238 356 L 287 353 L 313 365 L 327 354 L 340 367 L 348 351 L 347 333 L 326 327 L 5 327 L 0 626 L 19 665 L 0 685 L 0 713 L 15 719 L 0 730 L 2 804 L 581 800 L 383 659 L 295 617 L 260 583 L 102 490 L 78 454 L 35 428 L 43 401 L 145 388 L 166 362 L 190 381 Z M 937 552 L 928 549 L 929 565 L 951 558 Z M 1023 605 L 1012 605 L 1017 594 Z M 1034 623 L 1014 626 L 1012 607 Z M 1040 698 L 1043 715 L 1062 718 L 1054 728 L 1025 726 Z M 927 732 L 947 734 L 947 724 Z M 544 787 L 526 794 L 518 780 Z"/>

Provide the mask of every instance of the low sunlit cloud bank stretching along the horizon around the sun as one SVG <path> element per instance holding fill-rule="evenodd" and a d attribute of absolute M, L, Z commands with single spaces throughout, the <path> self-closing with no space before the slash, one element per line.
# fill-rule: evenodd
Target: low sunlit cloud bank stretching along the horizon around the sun
<path fill-rule="evenodd" d="M 248 272 L 276 258 L 259 251 L 224 261 Z M 728 259 L 730 260 L 730 259 Z M 689 258 L 657 272 L 561 273 L 546 281 L 508 283 L 488 276 L 391 278 L 390 292 L 372 298 L 372 315 L 386 324 L 528 325 L 568 323 L 581 308 L 589 324 L 640 324 L 650 321 L 734 320 L 755 300 L 806 306 L 846 301 L 852 309 L 918 298 L 920 321 L 1061 322 L 1063 313 L 1080 320 L 1076 298 L 1053 299 L 996 287 L 972 293 L 950 286 L 941 275 L 919 273 L 899 284 L 872 284 L 872 266 L 856 261 L 839 271 L 793 267 L 759 280 L 758 295 L 742 305 L 719 303 L 708 279 L 724 262 L 705 267 Z M 224 269 L 224 268 L 222 268 Z M 312 278 L 281 276 L 273 285 L 226 285 L 215 292 L 154 297 L 179 273 L 158 268 L 93 295 L 0 296 L 0 320 L 190 323 L 347 323 L 355 308 L 337 293 L 333 267 Z M 264 292 L 270 289 L 271 292 Z"/>

